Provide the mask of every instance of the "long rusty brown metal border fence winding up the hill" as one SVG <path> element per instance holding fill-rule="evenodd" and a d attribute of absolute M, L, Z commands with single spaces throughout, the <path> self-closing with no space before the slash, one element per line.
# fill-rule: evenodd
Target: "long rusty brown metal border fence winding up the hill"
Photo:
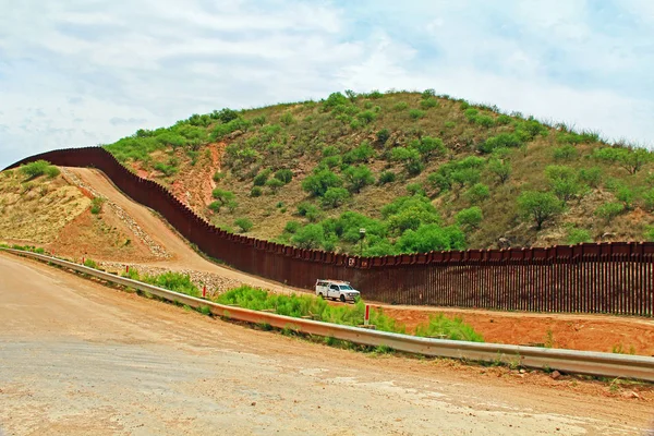
<path fill-rule="evenodd" d="M 38 159 L 97 168 L 207 255 L 298 288 L 311 289 L 317 278 L 331 278 L 351 281 L 367 300 L 391 304 L 640 316 L 654 311 L 654 243 L 349 256 L 227 233 L 101 147 L 48 152 L 9 168 Z"/>

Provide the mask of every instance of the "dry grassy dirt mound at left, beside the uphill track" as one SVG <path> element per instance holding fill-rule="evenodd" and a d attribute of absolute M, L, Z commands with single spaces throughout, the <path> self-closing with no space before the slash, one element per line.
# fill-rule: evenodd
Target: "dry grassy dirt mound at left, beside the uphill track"
<path fill-rule="evenodd" d="M 94 195 L 65 170 L 28 180 L 20 171 L 0 173 L 0 241 L 34 244 L 65 256 L 156 258 L 117 214 L 104 204 L 90 213 Z"/>

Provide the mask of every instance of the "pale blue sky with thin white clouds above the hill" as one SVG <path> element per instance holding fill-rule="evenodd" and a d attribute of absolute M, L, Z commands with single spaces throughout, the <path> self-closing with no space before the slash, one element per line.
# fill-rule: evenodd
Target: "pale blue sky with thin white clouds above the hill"
<path fill-rule="evenodd" d="M 654 144 L 652 0 L 0 0 L 0 168 L 346 88 L 435 88 Z"/>

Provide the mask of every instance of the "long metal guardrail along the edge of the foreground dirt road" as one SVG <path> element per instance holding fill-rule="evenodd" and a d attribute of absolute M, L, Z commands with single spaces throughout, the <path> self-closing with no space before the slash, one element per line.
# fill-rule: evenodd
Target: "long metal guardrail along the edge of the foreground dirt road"
<path fill-rule="evenodd" d="M 291 328 L 303 334 L 334 337 L 364 346 L 386 346 L 398 351 L 438 358 L 452 358 L 487 363 L 501 362 L 537 370 L 558 370 L 566 373 L 605 377 L 625 377 L 654 382 L 654 358 L 600 353 L 590 351 L 545 349 L 500 343 L 480 343 L 447 339 L 420 338 L 365 328 L 322 323 L 304 318 L 276 315 L 266 312 L 227 306 L 204 299 L 169 291 L 117 275 L 88 268 L 43 254 L 2 249 L 7 252 L 49 262 L 112 283 L 148 292 L 164 300 L 186 304 L 194 308 L 207 306 L 211 314 L 255 324 L 269 324 L 276 328 Z"/>

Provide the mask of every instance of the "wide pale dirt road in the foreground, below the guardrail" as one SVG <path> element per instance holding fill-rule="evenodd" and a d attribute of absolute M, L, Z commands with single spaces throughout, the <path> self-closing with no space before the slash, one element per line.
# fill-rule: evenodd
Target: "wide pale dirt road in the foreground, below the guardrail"
<path fill-rule="evenodd" d="M 8 254 L 0 301 L 8 435 L 638 435 L 652 417 L 650 391 L 331 349 Z"/>

